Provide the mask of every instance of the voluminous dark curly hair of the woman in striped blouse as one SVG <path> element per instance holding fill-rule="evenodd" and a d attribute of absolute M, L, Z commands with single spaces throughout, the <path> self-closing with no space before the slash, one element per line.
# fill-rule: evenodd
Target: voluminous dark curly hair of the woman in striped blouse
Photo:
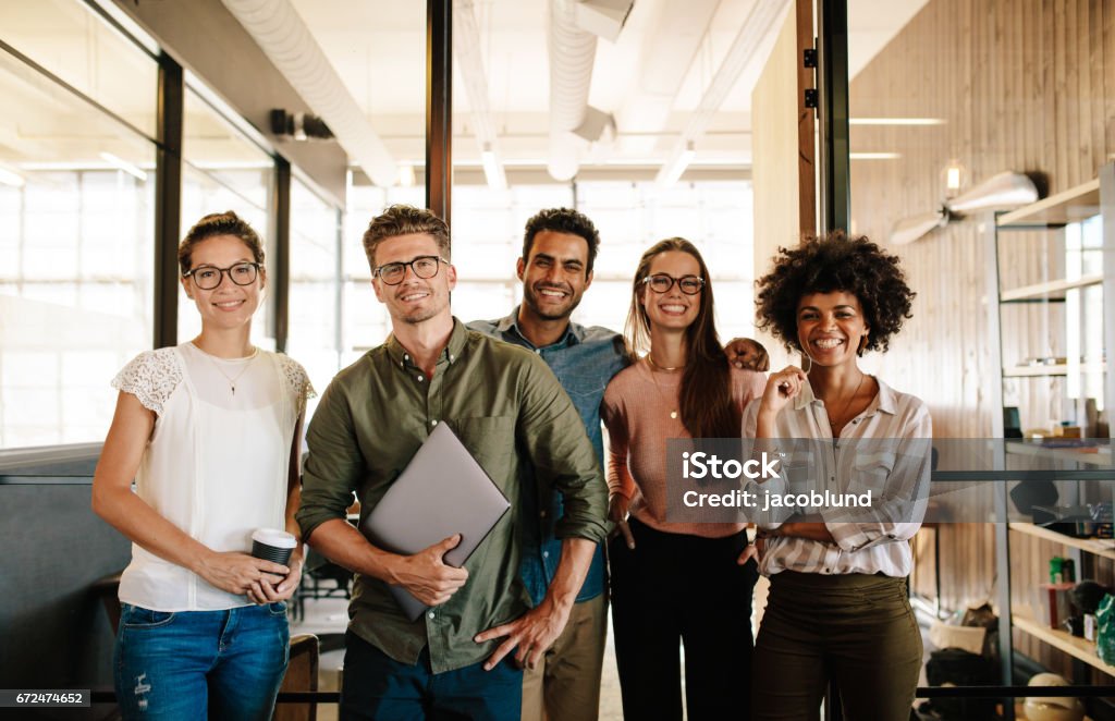
<path fill-rule="evenodd" d="M 905 282 L 899 258 L 860 235 L 842 231 L 807 238 L 797 248 L 779 248 L 774 268 L 755 281 L 757 326 L 782 339 L 787 350 L 802 352 L 797 340 L 797 304 L 815 292 L 852 294 L 870 328 L 863 350 L 890 348 L 891 336 L 911 318 L 917 295 Z"/>

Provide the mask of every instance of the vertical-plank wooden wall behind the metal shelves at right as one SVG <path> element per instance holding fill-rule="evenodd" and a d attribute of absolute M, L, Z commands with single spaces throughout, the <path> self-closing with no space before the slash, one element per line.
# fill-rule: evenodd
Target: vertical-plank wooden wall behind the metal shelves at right
<path fill-rule="evenodd" d="M 853 2 L 855 0 L 852 0 Z M 893 161 L 852 163 L 852 231 L 883 241 L 899 219 L 943 200 L 942 171 L 959 160 L 969 183 L 1002 171 L 1044 177 L 1057 193 L 1096 176 L 1115 157 L 1115 0 L 930 0 L 852 81 L 852 117 L 939 117 L 928 127 L 852 127 L 853 152 L 893 152 Z M 914 317 L 891 352 L 869 366 L 895 387 L 929 403 L 938 438 L 985 438 L 1000 408 L 993 367 L 998 338 L 988 326 L 986 243 L 991 217 L 969 218 L 910 246 L 903 258 L 918 292 Z M 1004 287 L 1060 275 L 1063 239 L 1018 233 L 1005 242 Z M 1015 313 L 1012 310 L 1011 313 Z M 1058 325 L 1018 309 L 1004 363 L 1035 353 L 1064 355 Z M 1024 425 L 1041 425 L 1043 408 L 1061 388 L 1008 383 Z M 941 602 L 947 608 L 993 597 L 995 536 L 990 523 L 944 525 L 940 535 Z M 1032 585 L 1054 544 L 1012 533 L 1016 609 L 1031 613 Z M 931 544 L 919 541 L 914 587 L 934 589 Z M 1112 580 L 1111 564 L 1089 573 Z M 1060 673 L 1061 654 L 1016 633 L 1019 650 Z M 1097 677 L 1109 683 L 1109 677 Z"/>

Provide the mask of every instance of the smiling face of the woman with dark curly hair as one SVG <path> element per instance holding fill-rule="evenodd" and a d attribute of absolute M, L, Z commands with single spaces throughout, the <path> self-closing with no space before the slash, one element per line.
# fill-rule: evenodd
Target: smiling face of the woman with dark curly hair
<path fill-rule="evenodd" d="M 816 365 L 854 364 L 870 331 L 860 299 L 850 292 L 815 292 L 797 301 L 797 342 Z"/>

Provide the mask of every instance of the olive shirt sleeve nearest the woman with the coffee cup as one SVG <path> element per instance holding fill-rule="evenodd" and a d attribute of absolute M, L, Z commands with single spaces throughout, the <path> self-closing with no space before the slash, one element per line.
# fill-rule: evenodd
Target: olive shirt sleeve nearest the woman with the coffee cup
<path fill-rule="evenodd" d="M 295 518 L 302 538 L 321 523 L 345 518 L 352 493 L 363 474 L 348 398 L 339 383 L 330 384 L 306 434 L 310 449 L 302 469 L 302 502 Z"/>

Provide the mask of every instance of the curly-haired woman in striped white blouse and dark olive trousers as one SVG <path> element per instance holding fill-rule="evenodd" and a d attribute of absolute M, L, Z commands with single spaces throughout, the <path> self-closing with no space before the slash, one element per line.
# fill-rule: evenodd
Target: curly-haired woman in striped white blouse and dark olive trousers
<path fill-rule="evenodd" d="M 866 508 L 825 501 L 759 523 L 770 595 L 752 718 L 816 719 L 833 681 L 845 718 L 904 721 L 922 655 L 905 586 L 909 540 L 924 508 L 932 426 L 924 403 L 865 374 L 859 358 L 888 349 L 914 294 L 898 258 L 840 233 L 782 249 L 758 286 L 759 327 L 801 353 L 806 369 L 770 375 L 744 414 L 744 438 L 788 450 L 787 464 L 808 446 L 805 465 L 785 467 L 788 490 L 804 491 L 794 488 L 804 481 L 818 492 L 872 496 Z"/>

